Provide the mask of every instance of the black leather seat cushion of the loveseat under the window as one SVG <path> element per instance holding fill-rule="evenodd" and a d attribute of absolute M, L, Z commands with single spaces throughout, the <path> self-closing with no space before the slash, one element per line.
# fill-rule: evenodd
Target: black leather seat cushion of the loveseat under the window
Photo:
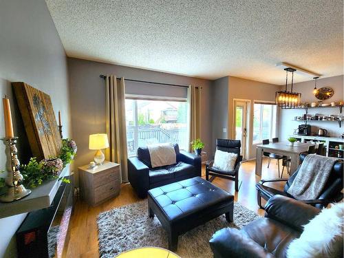
<path fill-rule="evenodd" d="M 194 169 L 194 166 L 184 162 L 163 166 L 158 169 L 149 169 L 149 181 L 151 184 L 156 184 L 173 178 L 187 178 L 188 175 L 193 173 Z"/>

